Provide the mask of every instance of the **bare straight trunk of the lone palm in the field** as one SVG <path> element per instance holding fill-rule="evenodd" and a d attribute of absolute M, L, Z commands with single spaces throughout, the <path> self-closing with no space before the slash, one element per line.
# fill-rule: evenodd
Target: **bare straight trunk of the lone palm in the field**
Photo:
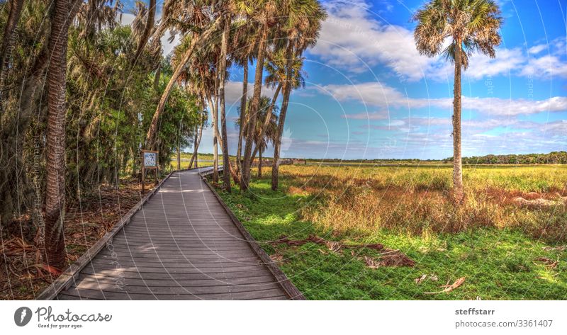
<path fill-rule="evenodd" d="M 456 203 L 462 203 L 463 165 L 461 161 L 461 42 L 455 48 L 455 82 L 453 101 L 453 188 Z"/>

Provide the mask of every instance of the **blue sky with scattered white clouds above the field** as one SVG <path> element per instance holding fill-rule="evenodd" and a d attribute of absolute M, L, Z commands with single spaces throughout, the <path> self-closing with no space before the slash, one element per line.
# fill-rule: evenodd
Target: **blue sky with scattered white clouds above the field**
<path fill-rule="evenodd" d="M 323 3 L 329 18 L 317 45 L 304 55 L 307 85 L 291 96 L 284 157 L 452 156 L 454 69 L 442 58 L 419 55 L 413 42 L 410 18 L 424 2 Z M 463 154 L 567 150 L 567 4 L 498 4 L 505 21 L 496 58 L 474 55 L 462 78 Z M 252 83 L 253 69 L 250 73 Z M 231 153 L 241 85 L 240 69 L 232 69 L 227 85 Z M 262 91 L 271 96 L 271 90 Z M 211 152 L 212 142 L 208 129 L 199 151 Z"/>

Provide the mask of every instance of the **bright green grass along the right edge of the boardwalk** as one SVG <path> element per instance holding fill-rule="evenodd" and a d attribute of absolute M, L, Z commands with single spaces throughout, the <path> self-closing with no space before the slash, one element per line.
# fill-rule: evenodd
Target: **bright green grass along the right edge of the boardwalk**
<path fill-rule="evenodd" d="M 342 169 L 342 168 L 341 168 Z M 547 172 L 546 172 L 547 173 Z M 501 186 L 532 189 L 533 178 L 506 178 L 498 171 L 482 170 L 471 174 Z M 521 175 L 521 174 L 520 174 Z M 422 177 L 425 178 L 425 177 Z M 540 179 L 541 180 L 541 179 Z M 317 198 L 307 193 L 288 194 L 289 178 L 281 179 L 283 191 L 272 192 L 269 178 L 252 181 L 249 193 L 220 192 L 250 234 L 261 242 L 270 255 L 283 256 L 284 273 L 308 299 L 317 300 L 565 300 L 567 299 L 567 251 L 546 251 L 544 242 L 527 236 L 517 228 L 479 228 L 454 234 L 421 234 L 415 236 L 376 229 L 367 234 L 331 230 L 301 218 L 305 206 L 318 206 Z M 324 209 L 323 209 L 324 210 Z M 341 220 L 337 217 L 336 220 Z M 369 268 L 362 256 L 378 256 L 376 251 L 362 249 L 354 255 L 347 249 L 339 253 L 325 246 L 308 243 L 303 246 L 273 246 L 265 242 L 287 235 L 303 239 L 317 234 L 325 239 L 345 243 L 381 243 L 399 249 L 416 262 L 410 267 Z M 535 259 L 558 260 L 556 268 L 546 268 Z M 434 275 L 419 285 L 415 278 Z M 442 290 L 457 278 L 466 281 L 451 293 L 427 295 Z"/>

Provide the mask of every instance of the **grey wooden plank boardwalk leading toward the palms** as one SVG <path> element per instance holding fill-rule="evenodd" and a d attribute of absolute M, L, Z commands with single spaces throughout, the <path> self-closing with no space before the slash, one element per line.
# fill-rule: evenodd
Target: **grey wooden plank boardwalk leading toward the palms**
<path fill-rule="evenodd" d="M 128 225 L 117 230 L 61 290 L 54 290 L 58 294 L 53 298 L 303 298 L 225 210 L 202 180 L 202 171 L 169 176 Z"/>

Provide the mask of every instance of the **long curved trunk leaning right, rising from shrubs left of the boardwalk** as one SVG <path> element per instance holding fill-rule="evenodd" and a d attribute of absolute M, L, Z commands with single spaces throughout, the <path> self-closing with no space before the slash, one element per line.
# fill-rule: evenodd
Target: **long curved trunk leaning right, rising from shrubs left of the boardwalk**
<path fill-rule="evenodd" d="M 219 16 L 213 23 L 209 25 L 209 27 L 201 35 L 198 35 L 197 38 L 194 38 L 191 41 L 191 46 L 189 47 L 189 49 L 187 49 L 183 57 L 181 57 L 181 62 L 177 64 L 177 67 L 175 68 L 172 77 L 169 79 L 169 82 L 165 87 L 164 93 L 162 93 L 162 98 L 159 99 L 159 103 L 157 104 L 157 108 L 155 110 L 154 116 L 152 117 L 152 123 L 150 124 L 150 129 L 147 130 L 146 149 L 154 149 L 155 147 L 157 123 L 159 117 L 162 115 L 164 111 L 165 103 L 167 102 L 167 98 L 169 98 L 169 93 L 172 92 L 173 86 L 177 82 L 177 79 L 179 79 L 179 75 L 181 74 L 181 72 L 183 72 L 185 65 L 187 64 L 187 62 L 189 62 L 189 59 L 193 55 L 193 52 L 195 51 L 196 47 L 201 46 L 203 42 L 206 42 L 206 40 L 208 40 L 210 34 L 212 34 L 214 30 L 216 30 L 222 18 L 223 16 Z"/>

